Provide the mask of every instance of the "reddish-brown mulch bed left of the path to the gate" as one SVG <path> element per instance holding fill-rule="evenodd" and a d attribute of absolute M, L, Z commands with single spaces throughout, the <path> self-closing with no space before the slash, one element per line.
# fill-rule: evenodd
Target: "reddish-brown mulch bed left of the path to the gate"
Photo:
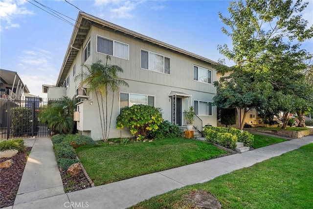
<path fill-rule="evenodd" d="M 31 147 L 28 148 L 28 151 L 30 150 Z M 27 153 L 18 153 L 12 158 L 0 158 L 0 163 L 9 159 L 13 160 L 11 167 L 0 168 L 0 208 L 13 205 L 22 180 L 27 157 Z"/>

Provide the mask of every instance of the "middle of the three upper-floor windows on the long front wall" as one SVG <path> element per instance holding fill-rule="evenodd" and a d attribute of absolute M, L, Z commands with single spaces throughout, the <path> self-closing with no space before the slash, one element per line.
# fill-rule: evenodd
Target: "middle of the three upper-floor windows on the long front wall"
<path fill-rule="evenodd" d="M 171 74 L 171 59 L 154 52 L 141 50 L 140 67 L 146 70 Z"/>

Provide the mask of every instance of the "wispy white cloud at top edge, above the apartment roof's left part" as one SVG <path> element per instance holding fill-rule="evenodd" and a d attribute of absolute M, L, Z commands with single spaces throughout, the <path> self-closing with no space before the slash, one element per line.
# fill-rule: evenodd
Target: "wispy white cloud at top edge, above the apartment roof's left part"
<path fill-rule="evenodd" d="M 124 18 L 130 19 L 134 15 L 132 12 L 137 5 L 145 2 L 145 0 L 95 0 L 94 5 L 100 10 L 108 10 L 111 18 Z M 103 18 L 103 14 L 98 15 Z"/>

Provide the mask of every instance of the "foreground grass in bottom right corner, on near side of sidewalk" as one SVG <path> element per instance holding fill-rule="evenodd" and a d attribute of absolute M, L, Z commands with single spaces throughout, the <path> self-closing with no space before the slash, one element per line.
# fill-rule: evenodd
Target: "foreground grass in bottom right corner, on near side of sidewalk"
<path fill-rule="evenodd" d="M 313 144 L 236 170 L 207 183 L 186 186 L 146 200 L 134 209 L 191 209 L 187 196 L 213 194 L 224 209 L 312 209 Z"/>

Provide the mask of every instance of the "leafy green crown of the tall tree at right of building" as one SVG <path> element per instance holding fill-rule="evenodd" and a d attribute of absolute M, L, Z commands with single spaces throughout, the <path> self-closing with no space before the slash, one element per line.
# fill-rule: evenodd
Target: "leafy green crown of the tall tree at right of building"
<path fill-rule="evenodd" d="M 301 48 L 301 42 L 313 37 L 313 26 L 308 28 L 300 15 L 307 5 L 301 0 L 239 0 L 230 2 L 230 17 L 219 13 L 229 28 L 222 31 L 231 37 L 232 48 L 218 49 L 235 66 L 229 76 L 215 82 L 217 106 L 245 112 L 255 107 L 272 113 L 294 109 L 294 86 L 312 58 Z"/>

